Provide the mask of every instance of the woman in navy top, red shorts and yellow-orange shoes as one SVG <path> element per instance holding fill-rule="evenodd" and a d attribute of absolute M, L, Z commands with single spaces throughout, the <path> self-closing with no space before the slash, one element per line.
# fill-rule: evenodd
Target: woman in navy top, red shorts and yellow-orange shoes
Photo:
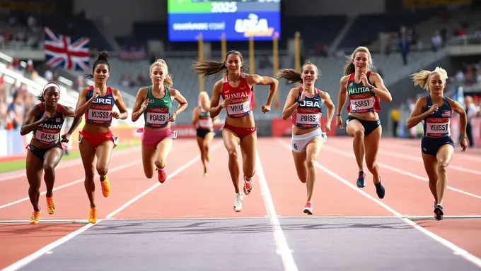
<path fill-rule="evenodd" d="M 127 109 L 119 90 L 107 85 L 110 76 L 110 56 L 108 52 L 100 52 L 93 62 L 92 74 L 85 78 L 95 78 L 94 85 L 83 88 L 75 109 L 75 116 L 85 115 L 85 125 L 79 134 L 79 150 L 85 170 L 85 189 L 90 201 L 91 210 L 88 222 L 97 222 L 97 205 L 95 204 L 94 169 L 100 176 L 100 184 L 104 197 L 110 194 L 110 183 L 107 178 L 108 165 L 112 149 L 117 145 L 117 137 L 112 135 L 110 124 L 112 117 L 127 119 Z M 112 111 L 114 104 L 119 112 Z M 97 164 L 93 160 L 97 157 Z"/>

